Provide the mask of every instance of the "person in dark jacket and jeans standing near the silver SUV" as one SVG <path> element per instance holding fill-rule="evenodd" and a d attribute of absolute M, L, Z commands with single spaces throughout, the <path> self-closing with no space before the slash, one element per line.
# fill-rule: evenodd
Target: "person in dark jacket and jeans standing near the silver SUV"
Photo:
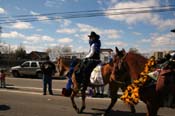
<path fill-rule="evenodd" d="M 43 95 L 46 95 L 47 85 L 50 95 L 53 95 L 52 91 L 52 76 L 56 72 L 55 64 L 50 61 L 49 56 L 46 56 L 46 61 L 41 65 L 43 72 Z"/>

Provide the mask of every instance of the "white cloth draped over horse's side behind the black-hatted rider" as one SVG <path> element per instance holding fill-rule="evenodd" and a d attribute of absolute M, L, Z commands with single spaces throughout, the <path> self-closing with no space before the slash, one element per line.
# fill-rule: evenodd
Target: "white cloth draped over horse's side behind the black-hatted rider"
<path fill-rule="evenodd" d="M 91 72 L 90 82 L 94 85 L 103 85 L 103 78 L 101 73 L 101 64 L 98 64 Z"/>

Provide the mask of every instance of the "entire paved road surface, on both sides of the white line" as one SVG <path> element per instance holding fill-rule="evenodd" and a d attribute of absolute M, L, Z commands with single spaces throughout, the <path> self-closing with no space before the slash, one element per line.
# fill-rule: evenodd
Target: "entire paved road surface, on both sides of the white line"
<path fill-rule="evenodd" d="M 78 116 L 70 99 L 60 96 L 65 80 L 54 80 L 55 95 L 42 95 L 42 81 L 38 79 L 7 78 L 7 89 L 0 89 L 0 116 Z M 78 105 L 81 99 L 76 98 Z M 110 103 L 109 98 L 91 98 L 86 101 L 86 110 L 81 116 L 100 116 Z M 118 101 L 109 116 L 144 116 L 145 104 L 136 105 L 136 114 L 131 114 L 128 106 Z M 161 108 L 160 116 L 174 116 L 175 110 Z"/>

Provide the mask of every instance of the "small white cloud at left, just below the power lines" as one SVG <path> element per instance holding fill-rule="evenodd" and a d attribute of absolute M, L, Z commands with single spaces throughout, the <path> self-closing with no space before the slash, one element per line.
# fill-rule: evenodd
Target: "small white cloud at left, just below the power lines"
<path fill-rule="evenodd" d="M 12 26 L 10 26 L 10 28 L 15 28 L 15 29 L 31 29 L 33 28 L 31 23 L 28 22 L 17 22 L 12 24 Z"/>

